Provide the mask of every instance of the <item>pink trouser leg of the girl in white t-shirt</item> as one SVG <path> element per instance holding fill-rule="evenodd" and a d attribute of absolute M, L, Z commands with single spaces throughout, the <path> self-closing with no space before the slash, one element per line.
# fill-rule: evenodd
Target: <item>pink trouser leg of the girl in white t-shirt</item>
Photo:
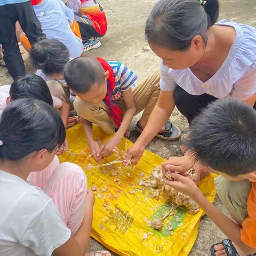
<path fill-rule="evenodd" d="M 84 218 L 86 183 L 86 175 L 80 166 L 62 163 L 43 188 L 53 199 L 71 235 L 76 233 Z"/>

